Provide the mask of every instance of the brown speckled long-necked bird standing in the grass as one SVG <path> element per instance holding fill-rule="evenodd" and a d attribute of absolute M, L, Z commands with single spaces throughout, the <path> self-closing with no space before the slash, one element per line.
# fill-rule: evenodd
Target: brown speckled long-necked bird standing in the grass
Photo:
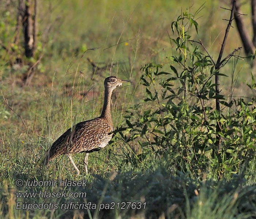
<path fill-rule="evenodd" d="M 47 165 L 54 158 L 67 154 L 77 175 L 80 175 L 71 155 L 85 152 L 84 169 L 87 175 L 89 153 L 106 147 L 112 138 L 114 127 L 110 111 L 111 95 L 113 90 L 122 86 L 124 82 L 129 81 L 121 80 L 115 76 L 107 77 L 104 81 L 105 95 L 101 115 L 91 120 L 79 122 L 65 131 L 44 153 L 41 165 Z"/>

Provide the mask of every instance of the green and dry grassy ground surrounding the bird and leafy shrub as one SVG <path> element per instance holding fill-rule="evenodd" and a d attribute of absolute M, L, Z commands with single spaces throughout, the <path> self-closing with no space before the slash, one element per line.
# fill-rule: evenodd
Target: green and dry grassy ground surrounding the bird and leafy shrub
<path fill-rule="evenodd" d="M 81 170 L 76 172 L 67 156 L 52 161 L 49 168 L 37 165 L 42 154 L 67 128 L 77 122 L 100 115 L 103 103 L 103 80 L 109 75 L 130 79 L 131 85 L 117 88 L 112 100 L 114 128 L 125 124 L 126 109 L 142 103 L 139 112 L 153 108 L 143 103 L 145 90 L 140 84 L 140 68 L 148 62 L 163 65 L 169 71 L 167 56 L 175 54 L 167 31 L 170 23 L 187 8 L 191 13 L 203 1 L 45 1 L 39 4 L 39 44 L 36 56 L 45 53 L 29 87 L 22 86 L 24 65 L 13 65 L 22 57 L 22 44 L 14 52 L 0 49 L 0 218 L 188 218 L 229 219 L 256 217 L 256 160 L 241 164 L 238 173 L 226 170 L 218 180 L 209 164 L 203 173 L 179 171 L 172 155 L 148 155 L 136 160 L 142 149 L 138 142 L 124 143 L 117 134 L 104 150 L 89 155 L 89 175 L 84 175 L 84 154 L 74 155 Z M 11 47 L 15 32 L 15 2 L 1 1 L 0 37 Z M 191 7 L 191 5 L 193 5 Z M 226 7 L 225 5 L 222 5 Z M 246 6 L 244 6 L 246 7 Z M 53 9 L 52 9 L 53 8 Z M 209 10 L 212 9 L 212 13 Z M 249 8 L 243 9 L 244 13 Z M 248 12 L 249 14 L 249 12 Z M 219 9 L 219 2 L 207 1 L 200 12 L 199 35 L 213 58 L 217 59 L 229 11 Z M 209 24 L 210 22 L 210 24 Z M 250 20 L 246 23 L 249 24 Z M 209 25 L 208 25 L 209 24 Z M 48 37 L 44 30 L 49 27 Z M 47 34 L 46 34 L 47 35 Z M 231 37 L 234 36 L 234 37 Z M 45 39 L 44 45 L 41 44 Z M 226 53 L 237 42 L 236 28 L 231 28 Z M 123 42 L 125 41 L 125 42 Z M 123 43 L 121 43 L 123 42 Z M 118 45 L 116 45 L 119 43 Z M 116 45 L 116 46 L 113 46 Z M 87 50 L 99 47 L 96 50 Z M 87 50 L 85 53 L 84 51 Z M 36 57 L 36 58 L 37 58 Z M 98 66 L 93 72 L 87 57 Z M 111 63 L 115 66 L 111 68 Z M 11 65 L 12 64 L 12 65 Z M 233 96 L 252 96 L 245 81 L 251 80 L 251 69 L 239 60 L 235 74 L 238 81 Z M 231 75 L 231 64 L 223 68 Z M 222 81 L 223 80 L 223 81 Z M 221 89 L 229 94 L 231 79 L 221 78 Z M 82 92 L 87 92 L 82 96 Z M 12 111 L 5 104 L 15 111 Z M 24 124 L 20 117 L 24 120 Z M 27 133 L 26 133 L 27 129 Z M 176 154 L 178 157 L 180 154 Z M 244 166 L 243 166 L 244 165 Z M 243 168 L 244 167 L 244 168 Z M 18 187 L 16 180 L 88 180 L 87 187 Z M 84 198 L 17 198 L 16 192 L 87 192 Z M 17 202 L 97 204 L 146 201 L 144 210 L 17 210 Z"/>

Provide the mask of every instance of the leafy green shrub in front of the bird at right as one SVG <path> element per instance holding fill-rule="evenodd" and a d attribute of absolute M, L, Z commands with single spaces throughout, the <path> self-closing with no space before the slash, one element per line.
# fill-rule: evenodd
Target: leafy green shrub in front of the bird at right
<path fill-rule="evenodd" d="M 202 177 L 204 172 L 209 177 L 228 177 L 255 155 L 255 98 L 245 102 L 216 92 L 212 78 L 226 75 L 194 45 L 196 41 L 189 40 L 189 31 L 192 27 L 197 31 L 197 26 L 186 12 L 172 23 L 177 38 L 170 40 L 177 53 L 167 57 L 172 61 L 169 71 L 160 71 L 162 65 L 154 63 L 141 69 L 144 103 L 127 110 L 127 126 L 117 132 L 130 146 L 127 157 L 133 164 L 154 156 L 193 178 Z M 221 110 L 214 106 L 216 99 Z"/>

